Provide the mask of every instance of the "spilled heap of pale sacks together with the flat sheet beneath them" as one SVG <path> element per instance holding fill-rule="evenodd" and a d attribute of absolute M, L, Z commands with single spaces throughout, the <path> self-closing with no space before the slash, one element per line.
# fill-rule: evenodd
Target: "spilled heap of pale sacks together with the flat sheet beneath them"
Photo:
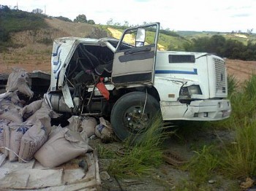
<path fill-rule="evenodd" d="M 0 190 L 100 190 L 97 150 L 89 138 L 110 141 L 110 122 L 74 115 L 64 127 L 52 125 L 62 114 L 45 98 L 23 97 L 31 99 L 33 92 L 26 71 L 16 69 L 7 93 L 0 94 Z"/>

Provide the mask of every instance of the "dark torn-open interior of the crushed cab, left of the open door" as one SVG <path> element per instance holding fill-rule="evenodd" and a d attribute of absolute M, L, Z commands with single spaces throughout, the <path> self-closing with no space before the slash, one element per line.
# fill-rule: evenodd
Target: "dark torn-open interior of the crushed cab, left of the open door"
<path fill-rule="evenodd" d="M 102 90 L 97 87 L 99 83 L 110 85 L 113 55 L 113 52 L 102 44 L 78 44 L 65 73 L 74 108 L 67 106 L 59 90 L 48 95 L 53 109 L 60 113 L 110 114 L 111 101 L 108 101 L 102 95 Z M 108 91 L 104 86 L 103 89 Z"/>

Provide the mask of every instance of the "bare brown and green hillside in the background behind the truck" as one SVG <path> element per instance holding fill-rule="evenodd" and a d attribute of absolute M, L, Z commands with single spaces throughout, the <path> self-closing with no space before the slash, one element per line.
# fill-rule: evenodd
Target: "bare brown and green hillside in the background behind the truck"
<path fill-rule="evenodd" d="M 29 17 L 33 20 L 31 13 L 16 12 L 15 14 Z M 10 41 L 15 44 L 15 47 L 8 48 L 0 55 L 0 71 L 1 73 L 9 73 L 13 66 L 18 66 L 27 71 L 42 70 L 50 72 L 50 55 L 52 50 L 53 39 L 62 36 L 78 36 L 89 38 L 102 38 L 106 36 L 113 36 L 119 39 L 121 36 L 121 29 L 116 29 L 111 26 L 97 26 L 88 23 L 72 23 L 57 18 L 37 17 L 41 22 L 39 28 L 34 28 L 31 25 L 23 24 L 19 28 L 18 23 L 26 23 L 26 17 L 22 20 L 16 20 L 14 15 L 8 17 L 9 22 L 1 23 L 7 26 L 8 30 L 14 30 L 10 35 Z M 40 21 L 41 20 L 41 21 Z M 43 20 L 43 21 L 42 21 Z M 10 22 L 16 22 L 16 26 L 10 25 Z M 34 21 L 36 22 L 36 21 Z M 43 24 L 44 22 L 45 24 Z M 21 27 L 21 26 L 20 26 Z M 26 29 L 26 30 L 25 30 Z M 173 31 L 172 31 L 173 33 Z M 219 34 L 217 32 L 195 32 L 195 31 L 177 31 L 177 35 L 159 34 L 159 50 L 182 50 L 183 44 L 189 42 L 189 39 L 200 38 L 203 36 L 213 36 Z M 246 44 L 248 40 L 255 41 L 255 34 L 221 34 L 226 39 L 233 38 Z M 256 61 L 239 61 L 227 59 L 228 74 L 233 74 L 239 80 L 244 81 L 248 79 L 256 68 Z"/>

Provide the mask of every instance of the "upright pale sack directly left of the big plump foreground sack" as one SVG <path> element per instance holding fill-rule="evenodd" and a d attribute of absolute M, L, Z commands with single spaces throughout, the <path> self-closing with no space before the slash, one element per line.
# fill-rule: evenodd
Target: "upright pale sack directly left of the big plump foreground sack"
<path fill-rule="evenodd" d="M 42 125 L 40 120 L 37 120 L 21 138 L 19 156 L 23 160 L 31 160 L 34 157 L 34 153 L 45 144 L 47 139 L 48 129 Z M 19 162 L 22 163 L 23 161 L 19 158 Z"/>

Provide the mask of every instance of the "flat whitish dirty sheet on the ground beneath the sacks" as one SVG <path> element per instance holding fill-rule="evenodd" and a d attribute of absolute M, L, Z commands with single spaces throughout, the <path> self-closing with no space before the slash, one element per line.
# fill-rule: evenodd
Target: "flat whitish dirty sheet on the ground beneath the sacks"
<path fill-rule="evenodd" d="M 44 168 L 37 160 L 10 163 L 0 154 L 0 190 L 100 190 L 97 152 L 80 155 L 88 170 L 65 163 L 58 168 Z"/>

